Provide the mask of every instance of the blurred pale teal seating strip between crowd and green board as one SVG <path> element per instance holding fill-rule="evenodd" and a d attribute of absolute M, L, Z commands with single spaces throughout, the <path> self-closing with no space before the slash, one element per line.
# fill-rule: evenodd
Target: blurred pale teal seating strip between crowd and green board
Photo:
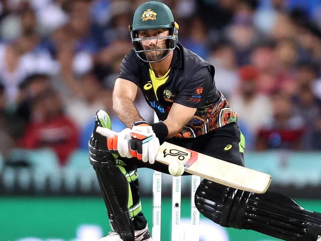
<path fill-rule="evenodd" d="M 297 188 L 321 184 L 320 152 L 267 151 L 245 153 L 246 167 L 271 174 L 273 184 Z M 2 170 L 2 171 L 1 171 Z M 140 193 L 152 192 L 153 170 L 138 169 Z M 189 176 L 182 177 L 182 192 L 190 192 Z M 87 150 L 76 150 L 66 166 L 60 167 L 51 149 L 13 149 L 4 165 L 0 155 L 0 179 L 4 190 L 35 193 L 88 194 L 98 193 L 95 171 L 88 161 Z M 171 192 L 172 177 L 162 175 L 162 188 Z M 10 193 L 10 191 L 8 192 Z"/>

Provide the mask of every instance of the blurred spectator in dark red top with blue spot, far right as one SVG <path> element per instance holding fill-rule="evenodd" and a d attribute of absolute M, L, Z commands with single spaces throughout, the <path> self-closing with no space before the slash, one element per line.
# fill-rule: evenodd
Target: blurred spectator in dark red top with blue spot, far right
<path fill-rule="evenodd" d="M 256 150 L 302 150 L 306 126 L 304 120 L 293 111 L 290 96 L 280 90 L 272 95 L 272 100 L 272 118 L 259 129 L 255 141 Z"/>

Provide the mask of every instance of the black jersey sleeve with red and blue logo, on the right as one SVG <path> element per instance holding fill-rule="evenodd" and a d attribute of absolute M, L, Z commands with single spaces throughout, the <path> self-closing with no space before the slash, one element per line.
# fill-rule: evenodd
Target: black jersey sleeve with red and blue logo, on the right
<path fill-rule="evenodd" d="M 202 67 L 184 86 L 179 88 L 174 102 L 191 108 L 200 108 L 207 100 L 207 94 L 212 85 L 213 78 L 210 71 L 207 67 Z"/>

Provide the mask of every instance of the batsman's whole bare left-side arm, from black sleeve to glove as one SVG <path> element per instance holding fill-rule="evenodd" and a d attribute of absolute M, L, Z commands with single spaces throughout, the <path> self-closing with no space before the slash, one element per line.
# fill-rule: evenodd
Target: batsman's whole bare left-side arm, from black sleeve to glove
<path fill-rule="evenodd" d="M 113 109 L 127 127 L 131 127 L 136 121 L 143 121 L 133 103 L 137 88 L 137 85 L 129 80 L 118 78 L 115 82 Z"/>

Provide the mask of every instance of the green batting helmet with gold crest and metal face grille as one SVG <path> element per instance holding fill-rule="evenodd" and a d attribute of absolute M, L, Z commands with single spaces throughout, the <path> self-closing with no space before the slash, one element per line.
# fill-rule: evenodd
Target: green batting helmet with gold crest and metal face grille
<path fill-rule="evenodd" d="M 168 29 L 169 35 L 163 37 L 139 38 L 137 31 L 139 30 L 156 30 Z M 130 26 L 131 40 L 138 57 L 145 62 L 158 62 L 168 56 L 173 50 L 178 40 L 178 24 L 174 21 L 173 13 L 170 8 L 159 1 L 148 1 L 137 7 L 133 24 Z M 152 48 L 146 49 L 142 43 L 144 40 L 156 40 L 156 43 L 162 43 L 163 46 L 157 44 Z M 155 52 L 153 58 L 149 52 Z M 149 57 L 150 56 L 150 57 Z"/>

